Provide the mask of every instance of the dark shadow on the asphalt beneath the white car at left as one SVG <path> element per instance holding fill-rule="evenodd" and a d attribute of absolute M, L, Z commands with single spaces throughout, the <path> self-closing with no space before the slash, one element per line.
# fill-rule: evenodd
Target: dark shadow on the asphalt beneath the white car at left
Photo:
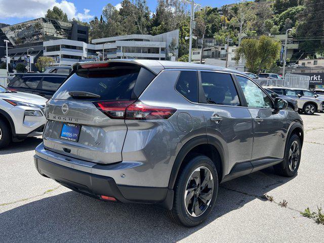
<path fill-rule="evenodd" d="M 7 147 L 0 149 L 0 155 L 34 150 L 41 142 L 42 137 L 26 138 L 21 142 L 11 143 Z"/>

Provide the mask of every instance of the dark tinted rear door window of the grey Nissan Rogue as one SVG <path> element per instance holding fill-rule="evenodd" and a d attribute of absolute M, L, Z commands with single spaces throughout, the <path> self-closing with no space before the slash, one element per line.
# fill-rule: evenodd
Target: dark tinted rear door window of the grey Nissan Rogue
<path fill-rule="evenodd" d="M 203 86 L 207 103 L 233 106 L 240 105 L 230 74 L 201 72 L 201 85 Z"/>

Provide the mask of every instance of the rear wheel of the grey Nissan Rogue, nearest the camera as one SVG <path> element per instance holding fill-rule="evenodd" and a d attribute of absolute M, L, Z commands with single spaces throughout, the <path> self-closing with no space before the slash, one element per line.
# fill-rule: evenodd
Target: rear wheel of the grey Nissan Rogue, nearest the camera
<path fill-rule="evenodd" d="M 207 176 L 205 181 L 203 174 L 211 176 Z M 198 175 L 201 175 L 200 180 Z M 203 184 L 201 180 L 204 184 L 208 183 L 200 186 Z M 218 192 L 218 175 L 213 161 L 205 155 L 195 154 L 178 175 L 174 190 L 173 208 L 167 212 L 169 218 L 186 227 L 194 227 L 205 221 L 214 208 Z M 185 195 L 188 198 L 187 205 Z"/>

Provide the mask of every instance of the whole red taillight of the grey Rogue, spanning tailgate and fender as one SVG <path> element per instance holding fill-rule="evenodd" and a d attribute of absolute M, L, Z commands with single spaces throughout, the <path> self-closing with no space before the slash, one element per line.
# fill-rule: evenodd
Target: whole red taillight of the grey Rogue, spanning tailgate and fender
<path fill-rule="evenodd" d="M 94 102 L 95 106 L 112 119 L 152 120 L 168 119 L 177 109 L 150 106 L 134 100 Z"/>

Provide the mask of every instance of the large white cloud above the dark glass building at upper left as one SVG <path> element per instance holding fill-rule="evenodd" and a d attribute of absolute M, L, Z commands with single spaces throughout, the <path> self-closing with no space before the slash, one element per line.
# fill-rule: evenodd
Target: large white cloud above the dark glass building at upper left
<path fill-rule="evenodd" d="M 75 5 L 63 0 L 0 0 L 0 19 L 6 18 L 39 18 L 44 17 L 48 9 L 54 6 L 62 9 L 69 19 L 89 20 L 94 16 L 90 15 L 89 9 L 84 9 L 84 13 L 78 13 Z"/>

